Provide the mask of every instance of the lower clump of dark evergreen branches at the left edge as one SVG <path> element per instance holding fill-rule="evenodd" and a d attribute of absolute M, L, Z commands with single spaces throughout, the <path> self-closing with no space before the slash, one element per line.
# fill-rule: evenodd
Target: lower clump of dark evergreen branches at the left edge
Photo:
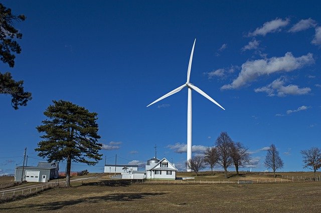
<path fill-rule="evenodd" d="M 12 96 L 11 105 L 14 109 L 19 106 L 26 106 L 27 102 L 32 99 L 30 92 L 25 92 L 23 87 L 24 81 L 15 81 L 11 73 L 0 73 L 0 94 Z"/>

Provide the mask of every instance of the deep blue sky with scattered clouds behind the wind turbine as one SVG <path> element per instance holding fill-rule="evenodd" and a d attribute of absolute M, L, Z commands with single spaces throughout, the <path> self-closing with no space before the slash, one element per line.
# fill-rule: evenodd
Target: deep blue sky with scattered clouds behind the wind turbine
<path fill-rule="evenodd" d="M 184 169 L 187 89 L 191 82 L 226 111 L 193 92 L 193 154 L 213 146 L 222 131 L 251 152 L 262 171 L 274 143 L 284 171 L 300 171 L 300 150 L 320 141 L 321 15 L 318 1 L 3 1 L 27 20 L 15 68 L 33 100 L 15 111 L 0 96 L 0 174 L 39 161 L 36 126 L 52 100 L 98 113 L 100 153 L 107 163 L 167 157 Z M 74 163 L 72 170 L 102 171 Z M 60 164 L 65 169 L 65 164 Z M 248 169 L 248 168 L 243 168 Z M 233 170 L 233 167 L 229 168 Z"/>

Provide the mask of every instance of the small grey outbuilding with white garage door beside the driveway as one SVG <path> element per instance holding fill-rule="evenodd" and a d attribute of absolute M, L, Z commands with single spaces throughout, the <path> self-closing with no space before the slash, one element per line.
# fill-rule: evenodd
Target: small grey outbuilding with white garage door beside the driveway
<path fill-rule="evenodd" d="M 21 181 L 23 177 L 23 180 L 27 182 L 48 182 L 50 179 L 58 178 L 58 175 L 59 164 L 57 162 L 40 161 L 37 166 L 17 166 L 15 181 Z"/>

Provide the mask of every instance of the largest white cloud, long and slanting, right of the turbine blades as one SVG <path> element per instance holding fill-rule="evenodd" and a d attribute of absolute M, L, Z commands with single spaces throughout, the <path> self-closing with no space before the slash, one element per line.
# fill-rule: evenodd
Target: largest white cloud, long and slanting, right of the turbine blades
<path fill-rule="evenodd" d="M 313 54 L 308 53 L 295 58 L 290 52 L 287 52 L 283 57 L 247 61 L 242 64 L 239 76 L 231 84 L 223 85 L 221 89 L 237 89 L 259 76 L 277 72 L 291 72 L 312 63 L 314 63 Z"/>

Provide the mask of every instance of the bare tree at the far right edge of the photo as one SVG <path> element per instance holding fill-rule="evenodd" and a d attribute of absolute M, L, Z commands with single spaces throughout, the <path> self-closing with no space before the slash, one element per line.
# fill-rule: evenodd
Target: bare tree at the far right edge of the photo
<path fill-rule="evenodd" d="M 321 167 L 321 150 L 317 147 L 312 147 L 301 151 L 303 157 L 303 168 L 310 168 L 314 172 L 314 181 L 316 179 L 316 170 Z"/>

